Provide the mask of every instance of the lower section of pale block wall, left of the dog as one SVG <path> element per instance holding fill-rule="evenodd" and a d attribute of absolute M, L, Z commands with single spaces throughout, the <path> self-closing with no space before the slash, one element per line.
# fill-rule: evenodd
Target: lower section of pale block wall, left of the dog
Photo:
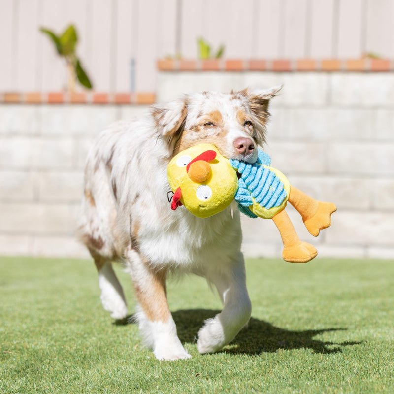
<path fill-rule="evenodd" d="M 73 234 L 94 137 L 138 105 L 0 105 L 0 254 L 88 257 Z"/>

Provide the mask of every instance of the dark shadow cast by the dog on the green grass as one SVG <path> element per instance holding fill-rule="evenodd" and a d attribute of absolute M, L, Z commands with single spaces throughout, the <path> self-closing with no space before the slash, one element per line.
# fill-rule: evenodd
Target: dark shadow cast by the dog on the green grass
<path fill-rule="evenodd" d="M 187 309 L 172 313 L 177 333 L 182 343 L 197 341 L 197 332 L 205 319 L 214 317 L 219 310 Z M 114 322 L 115 325 L 132 324 L 133 317 Z M 276 352 L 279 349 L 311 349 L 314 353 L 340 353 L 343 346 L 358 345 L 361 342 L 320 341 L 313 339 L 324 332 L 346 330 L 346 328 L 323 328 L 317 330 L 292 331 L 275 327 L 263 320 L 251 318 L 235 339 L 222 352 L 229 354 L 258 355 L 263 352 Z"/>

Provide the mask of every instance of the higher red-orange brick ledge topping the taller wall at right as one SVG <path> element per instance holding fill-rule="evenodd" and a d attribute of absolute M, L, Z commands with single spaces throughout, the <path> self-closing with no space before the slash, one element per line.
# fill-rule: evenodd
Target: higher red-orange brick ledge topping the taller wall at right
<path fill-rule="evenodd" d="M 160 71 L 394 71 L 392 59 L 159 59 Z"/>

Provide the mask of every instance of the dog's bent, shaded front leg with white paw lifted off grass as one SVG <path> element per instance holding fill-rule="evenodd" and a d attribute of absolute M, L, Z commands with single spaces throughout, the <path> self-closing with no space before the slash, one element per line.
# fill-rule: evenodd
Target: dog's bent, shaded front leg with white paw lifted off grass
<path fill-rule="evenodd" d="M 197 347 L 200 353 L 213 353 L 228 344 L 250 318 L 252 306 L 246 289 L 245 263 L 239 253 L 229 269 L 218 269 L 207 279 L 218 289 L 224 304 L 221 313 L 205 321 L 198 332 Z"/>

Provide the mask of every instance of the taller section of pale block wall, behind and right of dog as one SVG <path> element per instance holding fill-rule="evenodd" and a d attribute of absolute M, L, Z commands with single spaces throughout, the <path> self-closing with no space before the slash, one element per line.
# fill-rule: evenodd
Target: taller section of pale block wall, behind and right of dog
<path fill-rule="evenodd" d="M 288 206 L 300 238 L 320 256 L 394 258 L 393 73 L 162 71 L 157 98 L 280 83 L 265 150 L 292 184 L 338 208 L 314 238 Z M 243 230 L 246 254 L 280 256 L 272 221 L 244 217 Z"/>

